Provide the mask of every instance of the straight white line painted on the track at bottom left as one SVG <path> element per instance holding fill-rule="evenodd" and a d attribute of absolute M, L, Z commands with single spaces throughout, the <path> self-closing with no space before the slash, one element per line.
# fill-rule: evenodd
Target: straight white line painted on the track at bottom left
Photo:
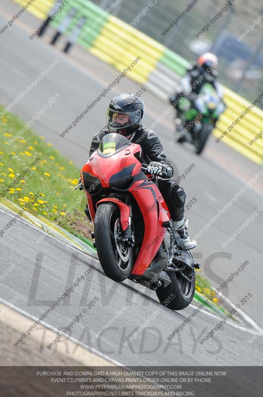
<path fill-rule="evenodd" d="M 105 354 L 101 353 L 99 350 L 96 350 L 96 349 L 94 349 L 93 347 L 90 347 L 90 346 L 88 346 L 87 344 L 82 343 L 82 342 L 79 341 L 78 339 L 75 339 L 75 338 L 73 338 L 72 336 L 69 336 L 69 335 L 67 335 L 67 334 L 62 335 L 62 331 L 59 331 L 57 328 L 51 326 L 50 324 L 46 323 L 45 321 L 39 320 L 37 317 L 33 316 L 32 314 L 30 314 L 30 313 L 28 313 L 28 312 L 25 312 L 24 310 L 22 310 L 22 309 L 20 309 L 19 307 L 15 306 L 15 305 L 13 305 L 13 304 L 11 304 L 11 303 L 9 303 L 9 302 L 7 302 L 6 300 L 0 298 L 0 303 L 2 303 L 2 304 L 5 305 L 5 306 L 8 306 L 9 308 L 13 309 L 14 311 L 16 311 L 16 312 L 22 314 L 23 316 L 25 316 L 25 317 L 27 317 L 27 318 L 33 320 L 34 322 L 35 322 L 36 320 L 38 320 L 38 322 L 39 322 L 42 326 L 48 328 L 49 330 L 51 330 L 51 331 L 53 331 L 53 332 L 55 332 L 55 333 L 58 333 L 59 335 L 63 336 L 64 338 L 67 338 L 67 339 L 71 340 L 71 341 L 74 342 L 74 343 L 77 343 L 78 345 L 84 347 L 84 349 L 86 349 L 86 350 L 88 350 L 88 351 L 90 351 L 90 352 L 92 352 L 92 353 L 94 353 L 94 354 L 97 354 L 98 356 L 104 358 L 105 360 L 110 361 L 112 364 L 117 365 L 117 366 L 119 366 L 119 367 L 123 367 L 123 366 L 124 366 L 123 364 L 119 363 L 118 361 L 115 361 L 115 360 L 113 360 L 112 358 L 110 358 L 110 357 L 106 356 Z"/>

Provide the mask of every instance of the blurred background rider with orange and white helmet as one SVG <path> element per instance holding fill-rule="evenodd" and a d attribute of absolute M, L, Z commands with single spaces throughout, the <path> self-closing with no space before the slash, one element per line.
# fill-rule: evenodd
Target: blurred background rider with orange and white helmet
<path fill-rule="evenodd" d="M 174 106 L 178 113 L 180 113 L 178 104 L 180 97 L 187 96 L 187 98 L 193 102 L 196 96 L 199 95 L 201 88 L 206 84 L 210 83 L 216 91 L 217 97 L 223 103 L 222 100 L 223 92 L 218 84 L 217 77 L 218 72 L 216 67 L 218 65 L 217 57 L 212 53 L 205 53 L 198 58 L 196 64 L 188 67 L 186 74 L 181 79 L 182 90 L 177 94 L 170 97 L 170 103 Z M 185 94 L 187 93 L 187 94 Z M 224 105 L 225 106 L 225 105 Z M 179 114 L 178 114 L 179 116 Z M 214 125 L 218 118 L 214 120 Z M 180 119 L 175 120 L 176 124 L 180 124 Z"/>

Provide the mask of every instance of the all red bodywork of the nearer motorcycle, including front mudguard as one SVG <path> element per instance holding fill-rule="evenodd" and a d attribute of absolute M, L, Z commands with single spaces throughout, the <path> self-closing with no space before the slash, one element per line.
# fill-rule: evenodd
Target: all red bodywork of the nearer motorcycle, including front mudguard
<path fill-rule="evenodd" d="M 107 188 L 109 187 L 109 179 L 112 175 L 132 164 L 135 164 L 132 176 L 139 174 L 142 165 L 134 156 L 138 152 L 141 153 L 141 146 L 135 143 L 107 158 L 101 157 L 96 150 L 81 170 L 82 182 L 84 183 L 82 172 L 88 172 L 100 179 L 103 188 Z M 162 223 L 170 219 L 170 214 L 158 187 L 151 180 L 142 179 L 136 181 L 130 187 L 129 192 L 138 202 L 145 226 L 142 246 L 131 273 L 143 275 L 157 254 L 163 235 L 166 232 Z M 86 190 L 85 193 L 87 195 L 90 214 L 94 221 L 96 210 L 93 205 L 93 199 Z M 112 197 L 102 199 L 96 205 L 98 206 L 103 201 L 111 201 L 118 205 L 121 226 L 123 230 L 126 230 L 130 216 L 129 206 L 121 200 Z"/>

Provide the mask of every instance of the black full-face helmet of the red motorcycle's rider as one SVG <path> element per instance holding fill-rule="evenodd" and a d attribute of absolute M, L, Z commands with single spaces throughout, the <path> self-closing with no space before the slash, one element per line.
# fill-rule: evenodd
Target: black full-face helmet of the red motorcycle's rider
<path fill-rule="evenodd" d="M 120 123 L 121 115 L 128 116 Z M 134 94 L 120 94 L 112 98 L 107 110 L 107 127 L 109 132 L 131 135 L 142 124 L 144 103 Z"/>

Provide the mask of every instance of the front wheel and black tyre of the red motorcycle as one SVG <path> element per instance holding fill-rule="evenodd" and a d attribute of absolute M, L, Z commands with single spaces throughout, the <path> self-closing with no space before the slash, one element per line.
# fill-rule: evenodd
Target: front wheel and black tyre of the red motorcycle
<path fill-rule="evenodd" d="M 133 266 L 133 248 L 121 242 L 122 233 L 117 205 L 100 204 L 94 220 L 97 253 L 106 276 L 118 282 L 130 275 Z"/>

